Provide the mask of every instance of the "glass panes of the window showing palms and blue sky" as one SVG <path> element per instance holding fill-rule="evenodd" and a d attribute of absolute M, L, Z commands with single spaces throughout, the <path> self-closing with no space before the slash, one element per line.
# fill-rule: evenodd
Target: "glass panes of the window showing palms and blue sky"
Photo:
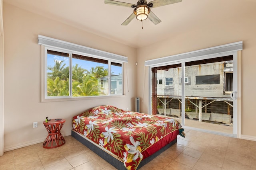
<path fill-rule="evenodd" d="M 108 71 L 109 63 L 111 75 Z M 72 72 L 71 81 L 69 72 Z M 111 84 L 108 84 L 109 77 Z M 47 50 L 48 97 L 107 96 L 109 86 L 110 94 L 122 95 L 122 63 Z M 69 87 L 72 87 L 71 92 Z"/>

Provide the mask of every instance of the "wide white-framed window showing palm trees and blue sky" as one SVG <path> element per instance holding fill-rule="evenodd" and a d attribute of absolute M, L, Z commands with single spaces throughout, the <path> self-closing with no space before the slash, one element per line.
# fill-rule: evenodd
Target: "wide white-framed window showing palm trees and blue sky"
<path fill-rule="evenodd" d="M 43 99 L 124 94 L 123 70 L 126 57 L 65 41 L 59 44 L 60 40 L 56 40 L 56 47 L 49 47 L 52 41 L 48 40 L 52 39 L 38 36 L 38 43 L 45 45 Z M 67 49 L 58 47 L 63 43 L 66 43 Z"/>

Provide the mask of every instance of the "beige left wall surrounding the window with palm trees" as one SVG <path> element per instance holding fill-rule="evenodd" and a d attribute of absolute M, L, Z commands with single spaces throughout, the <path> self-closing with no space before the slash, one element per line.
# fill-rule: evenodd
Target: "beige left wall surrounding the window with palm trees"
<path fill-rule="evenodd" d="M 64 118 L 63 135 L 71 134 L 74 115 L 98 105 L 132 109 L 135 104 L 136 49 L 76 29 L 58 21 L 4 4 L 4 149 L 38 143 L 47 136 L 45 117 Z M 38 34 L 128 57 L 128 87 L 124 97 L 67 102 L 41 102 L 41 47 Z M 32 123 L 38 121 L 38 128 Z"/>

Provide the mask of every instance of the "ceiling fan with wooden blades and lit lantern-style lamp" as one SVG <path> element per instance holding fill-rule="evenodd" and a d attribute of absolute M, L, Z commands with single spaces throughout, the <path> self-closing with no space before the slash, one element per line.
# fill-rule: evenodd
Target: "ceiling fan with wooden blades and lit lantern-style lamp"
<path fill-rule="evenodd" d="M 132 21 L 135 17 L 140 21 L 148 18 L 156 25 L 160 23 L 161 20 L 151 11 L 151 8 L 174 4 L 181 1 L 182 0 L 153 0 L 147 3 L 146 0 L 138 0 L 137 4 L 130 4 L 114 0 L 105 0 L 105 4 L 134 8 L 133 13 L 122 23 L 122 25 L 128 25 L 128 23 L 130 23 L 130 21 Z"/>

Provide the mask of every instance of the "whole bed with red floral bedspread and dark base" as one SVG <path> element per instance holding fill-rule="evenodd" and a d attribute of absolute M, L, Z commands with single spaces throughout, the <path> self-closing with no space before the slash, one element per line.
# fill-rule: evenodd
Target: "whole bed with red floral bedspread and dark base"
<path fill-rule="evenodd" d="M 72 136 L 118 170 L 136 170 L 185 137 L 169 117 L 93 107 L 72 118 Z"/>

